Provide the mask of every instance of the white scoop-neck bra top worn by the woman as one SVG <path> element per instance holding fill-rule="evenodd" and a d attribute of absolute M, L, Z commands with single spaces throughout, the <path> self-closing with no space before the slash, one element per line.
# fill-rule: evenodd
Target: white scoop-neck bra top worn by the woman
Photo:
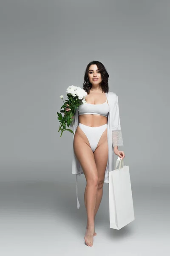
<path fill-rule="evenodd" d="M 100 116 L 106 116 L 108 117 L 108 113 L 110 111 L 110 106 L 107 103 L 107 100 L 102 103 L 102 104 L 90 104 L 90 103 L 85 103 L 79 105 L 78 108 L 78 114 L 80 115 L 100 115 Z"/>

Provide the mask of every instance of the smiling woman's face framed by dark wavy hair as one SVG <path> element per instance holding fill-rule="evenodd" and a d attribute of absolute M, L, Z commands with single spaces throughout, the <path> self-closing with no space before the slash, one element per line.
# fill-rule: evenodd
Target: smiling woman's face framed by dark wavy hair
<path fill-rule="evenodd" d="M 93 85 L 99 85 L 102 81 L 101 73 L 96 64 L 93 64 L 88 69 L 88 79 Z"/>

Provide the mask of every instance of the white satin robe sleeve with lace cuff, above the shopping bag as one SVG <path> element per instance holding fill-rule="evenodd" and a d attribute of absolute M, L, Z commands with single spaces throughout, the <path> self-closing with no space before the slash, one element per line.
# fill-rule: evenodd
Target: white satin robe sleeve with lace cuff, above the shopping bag
<path fill-rule="evenodd" d="M 123 146 L 122 131 L 120 126 L 120 117 L 119 117 L 119 103 L 118 96 L 116 95 L 115 102 L 113 104 L 113 116 L 112 116 L 112 145 Z"/>

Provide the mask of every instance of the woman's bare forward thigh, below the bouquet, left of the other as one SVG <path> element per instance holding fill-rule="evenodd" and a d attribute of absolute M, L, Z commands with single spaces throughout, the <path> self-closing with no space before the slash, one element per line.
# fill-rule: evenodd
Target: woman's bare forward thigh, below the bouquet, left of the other
<path fill-rule="evenodd" d="M 79 160 L 80 165 L 82 166 L 87 182 L 96 183 L 98 180 L 98 172 L 96 168 L 94 153 L 91 150 L 85 133 L 81 130 L 81 128 L 79 128 L 79 126 L 77 127 L 74 135 L 73 146 L 74 153 Z"/>

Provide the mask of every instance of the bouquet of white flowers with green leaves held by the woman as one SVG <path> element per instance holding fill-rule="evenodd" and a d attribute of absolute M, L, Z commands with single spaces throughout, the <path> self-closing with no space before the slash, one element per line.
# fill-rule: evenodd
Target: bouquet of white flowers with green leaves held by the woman
<path fill-rule="evenodd" d="M 63 131 L 70 131 L 72 134 L 74 134 L 74 132 L 71 129 L 66 128 L 66 125 L 67 127 L 71 125 L 74 119 L 74 115 L 76 113 L 76 109 L 79 107 L 79 105 L 86 103 L 85 97 L 88 95 L 85 90 L 74 85 L 69 86 L 66 92 L 67 92 L 68 99 L 65 100 L 65 102 L 63 101 L 64 104 L 60 108 L 60 109 L 63 108 L 63 110 L 61 110 L 60 113 L 57 112 L 57 115 L 58 115 L 57 119 L 60 122 L 59 130 L 58 130 L 58 132 L 61 131 L 60 137 L 62 136 Z M 59 97 L 63 100 L 64 96 L 61 95 Z M 67 104 L 71 109 L 69 112 L 65 111 L 65 108 L 68 107 Z M 64 116 L 62 116 L 61 113 L 64 113 Z"/>

